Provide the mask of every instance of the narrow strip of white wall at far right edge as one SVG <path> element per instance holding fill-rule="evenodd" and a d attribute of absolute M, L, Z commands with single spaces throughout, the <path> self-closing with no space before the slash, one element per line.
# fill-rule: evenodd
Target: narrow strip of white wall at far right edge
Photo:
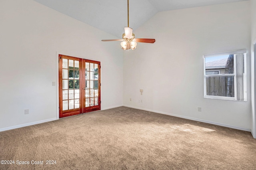
<path fill-rule="evenodd" d="M 256 115 L 255 115 L 255 101 L 256 101 L 256 0 L 251 0 L 251 23 L 252 23 L 252 135 L 256 138 Z"/>

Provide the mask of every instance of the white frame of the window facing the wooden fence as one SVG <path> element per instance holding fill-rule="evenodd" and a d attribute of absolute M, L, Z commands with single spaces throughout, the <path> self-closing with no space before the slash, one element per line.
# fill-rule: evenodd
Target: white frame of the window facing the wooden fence
<path fill-rule="evenodd" d="M 222 99 L 222 100 L 233 100 L 238 101 L 237 99 L 237 85 L 236 85 L 236 57 L 234 57 L 234 74 L 208 74 L 206 75 L 206 67 L 205 67 L 205 58 L 207 57 L 217 57 L 220 55 L 234 55 L 234 54 L 241 54 L 244 53 L 244 99 L 242 101 L 247 101 L 247 88 L 246 88 L 246 49 L 242 50 L 235 50 L 235 51 L 227 51 L 222 53 L 212 53 L 212 54 L 206 54 L 204 55 L 204 98 L 206 99 Z M 212 96 L 212 95 L 206 95 L 206 77 L 228 77 L 233 76 L 234 77 L 234 97 L 225 97 L 225 96 Z M 239 100 L 241 101 L 241 100 Z"/>

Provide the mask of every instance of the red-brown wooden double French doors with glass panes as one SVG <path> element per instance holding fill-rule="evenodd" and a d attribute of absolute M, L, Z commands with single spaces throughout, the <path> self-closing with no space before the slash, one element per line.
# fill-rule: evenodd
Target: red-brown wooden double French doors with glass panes
<path fill-rule="evenodd" d="M 59 117 L 100 110 L 100 62 L 59 55 Z"/>

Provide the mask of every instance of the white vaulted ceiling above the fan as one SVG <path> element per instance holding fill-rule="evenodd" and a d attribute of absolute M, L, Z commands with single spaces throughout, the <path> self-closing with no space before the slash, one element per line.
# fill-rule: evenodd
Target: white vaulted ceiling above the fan
<path fill-rule="evenodd" d="M 90 26 L 122 37 L 127 26 L 127 0 L 35 0 Z M 246 0 L 129 0 L 129 26 L 136 30 L 160 11 Z"/>

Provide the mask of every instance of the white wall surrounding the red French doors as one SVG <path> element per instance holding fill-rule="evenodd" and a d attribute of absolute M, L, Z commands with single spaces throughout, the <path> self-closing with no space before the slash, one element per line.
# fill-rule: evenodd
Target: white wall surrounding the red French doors
<path fill-rule="evenodd" d="M 0 131 L 58 117 L 57 51 L 100 61 L 102 109 L 122 105 L 123 51 L 100 41 L 116 37 L 33 0 L 1 0 L 0 22 Z"/>

